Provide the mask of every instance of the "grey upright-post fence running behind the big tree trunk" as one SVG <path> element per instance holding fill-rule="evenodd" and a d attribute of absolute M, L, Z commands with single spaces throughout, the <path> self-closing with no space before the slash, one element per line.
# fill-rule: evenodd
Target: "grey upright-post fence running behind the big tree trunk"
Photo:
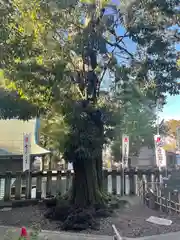
<path fill-rule="evenodd" d="M 68 191 L 72 183 L 73 171 L 47 171 L 30 173 L 0 174 L 2 201 L 21 199 L 48 198 Z M 127 169 L 124 172 L 117 170 L 103 171 L 104 190 L 117 195 L 139 194 L 140 182 L 159 182 L 158 169 L 136 170 Z M 124 177 L 124 181 L 123 181 Z M 12 183 L 14 181 L 14 183 Z M 4 189 L 3 189 L 4 187 Z"/>

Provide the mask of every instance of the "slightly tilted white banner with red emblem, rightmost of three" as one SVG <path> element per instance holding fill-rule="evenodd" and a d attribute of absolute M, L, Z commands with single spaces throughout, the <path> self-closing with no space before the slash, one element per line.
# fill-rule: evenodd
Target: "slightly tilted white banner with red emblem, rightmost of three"
<path fill-rule="evenodd" d="M 167 166 L 166 151 L 162 147 L 163 143 L 160 135 L 154 136 L 154 143 L 155 143 L 156 165 L 157 167 L 160 167 L 160 168 L 166 167 Z"/>

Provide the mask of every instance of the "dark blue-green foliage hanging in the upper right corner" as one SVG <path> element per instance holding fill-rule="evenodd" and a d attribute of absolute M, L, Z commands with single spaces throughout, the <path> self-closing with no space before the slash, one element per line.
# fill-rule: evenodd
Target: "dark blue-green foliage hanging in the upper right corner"
<path fill-rule="evenodd" d="M 179 1 L 123 1 L 123 25 L 129 37 L 137 44 L 137 53 L 131 62 L 129 77 L 143 86 L 146 94 L 154 91 L 155 97 L 166 92 L 179 93 L 177 68 Z"/>

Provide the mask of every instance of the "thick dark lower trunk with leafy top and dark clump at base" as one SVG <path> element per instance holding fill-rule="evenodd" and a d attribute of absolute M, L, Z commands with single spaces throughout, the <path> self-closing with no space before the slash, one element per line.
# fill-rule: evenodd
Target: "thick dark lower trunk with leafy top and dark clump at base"
<path fill-rule="evenodd" d="M 101 112 L 92 105 L 78 106 L 80 109 L 73 110 L 71 115 L 72 131 L 64 152 L 64 158 L 73 162 L 72 187 L 57 201 L 52 215 L 63 222 L 64 230 L 94 228 L 97 212 L 108 212 L 109 199 L 103 192 L 104 127 Z"/>

